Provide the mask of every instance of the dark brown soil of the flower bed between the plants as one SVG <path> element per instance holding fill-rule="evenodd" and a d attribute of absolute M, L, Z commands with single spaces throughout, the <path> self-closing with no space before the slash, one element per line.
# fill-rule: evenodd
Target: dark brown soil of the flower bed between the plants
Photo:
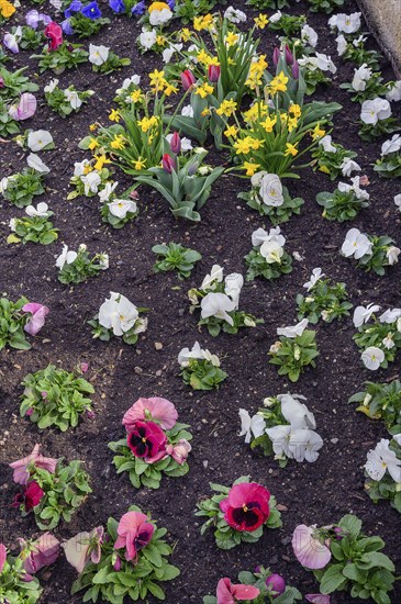
<path fill-rule="evenodd" d="M 243 1 L 234 0 L 232 4 L 244 9 Z M 354 1 L 346 3 L 346 12 L 355 10 Z M 301 1 L 291 11 L 307 11 L 307 3 Z M 21 15 L 25 12 L 19 11 Z M 252 16 L 256 14 L 256 11 L 247 12 Z M 18 537 L 38 533 L 33 518 L 21 518 L 9 506 L 14 489 L 8 462 L 29 454 L 35 443 L 42 443 L 47 456 L 83 460 L 92 477 L 93 494 L 69 525 L 62 525 L 56 530 L 58 537 L 69 538 L 79 530 L 104 524 L 109 515 L 119 518 L 133 503 L 149 511 L 160 525 L 168 528 L 169 540 L 176 545 L 172 561 L 181 569 L 181 575 L 167 584 L 166 601 L 169 604 L 200 603 L 202 595 L 214 593 L 221 577 L 229 575 L 234 580 L 240 570 L 252 570 L 258 563 L 270 564 L 303 594 L 319 591 L 312 573 L 304 571 L 292 555 L 292 532 L 300 523 L 331 524 L 349 512 L 363 519 L 367 534 L 379 534 L 387 543 L 386 552 L 400 562 L 397 512 L 387 503 L 374 505 L 364 492 L 366 454 L 381 437 L 387 437 L 386 429 L 382 424 L 358 415 L 354 406 L 347 404 L 348 398 L 360 390 L 365 380 L 396 378 L 400 360 L 387 371 L 374 376 L 364 370 L 352 340 L 355 329 L 348 318 L 341 325 L 319 324 L 321 355 L 318 368 L 307 371 L 296 385 L 280 378 L 275 367 L 268 365 L 267 351 L 276 339 L 276 328 L 296 322 L 294 298 L 316 266 L 332 279 L 347 283 L 355 305 L 376 302 L 383 309 L 400 306 L 400 265 L 392 267 L 385 278 L 367 276 L 338 254 L 350 226 L 368 233 L 388 234 L 400 245 L 401 215 L 393 203 L 393 195 L 400 192 L 400 182 L 381 180 L 372 171 L 382 141 L 366 144 L 357 135 L 359 104 L 350 103 L 347 93 L 338 88 L 339 83 L 350 81 L 353 65 L 337 57 L 335 35 L 327 29 L 326 15 L 311 13 L 309 23 L 319 33 L 318 49 L 332 55 L 338 67 L 333 86 L 320 90 L 318 98 L 343 104 L 343 111 L 335 118 L 334 139 L 358 153 L 357 161 L 363 166 L 363 174 L 367 174 L 371 181 L 368 188 L 371 203 L 352 225 L 331 223 L 322 219 L 321 209 L 314 201 L 318 192 L 334 189 L 325 175 L 315 175 L 308 169 L 301 180 L 290 183 L 293 197 L 302 195 L 305 205 L 301 216 L 282 225 L 282 232 L 288 239 L 288 249 L 291 253 L 298 250 L 303 260 L 294 262 L 290 276 L 274 283 L 258 280 L 244 287 L 241 307 L 263 317 L 265 324 L 243 331 L 237 336 L 222 334 L 213 339 L 205 331 L 200 333 L 196 317 L 188 312 L 186 293 L 190 287 L 201 282 L 215 262 L 224 266 L 226 272 L 244 273 L 243 257 L 250 249 L 252 232 L 259 226 L 269 226 L 237 200 L 244 181 L 233 176 L 221 178 L 202 210 L 199 225 L 176 222 L 167 203 L 149 190 L 141 192 L 138 219 L 121 231 L 101 223 L 96 198 L 66 201 L 74 161 L 83 158 L 77 143 L 88 132 L 89 124 L 96 120 L 107 122 L 113 92 L 124 77 L 135 72 L 144 76 L 160 65 L 159 57 L 153 54 L 140 56 L 134 44 L 140 32 L 135 21 L 113 16 L 111 26 L 91 40 L 111 46 L 120 56 L 130 56 L 131 67 L 111 77 L 93 74 L 88 65 L 63 74 L 60 85 L 74 82 L 78 89 L 96 90 L 87 108 L 73 119 L 63 121 L 46 105 L 41 105 L 32 124 L 26 124 L 36 130 L 48 128 L 57 146 L 56 150 L 42 154 L 52 168 L 47 180 L 49 190 L 42 199 L 55 212 L 54 224 L 60 230 L 60 237 L 48 247 L 8 246 L 9 221 L 22 211 L 2 203 L 0 291 L 7 292 L 11 299 L 24 294 L 51 309 L 46 325 L 34 339 L 31 351 L 1 353 L 0 540 L 8 547 L 13 547 Z M 274 34 L 265 30 L 260 48 L 268 59 L 274 46 Z M 375 47 L 374 42 L 371 46 Z M 41 83 L 43 94 L 43 86 L 54 75 L 46 72 L 37 77 L 37 65 L 29 61 L 29 55 L 22 52 L 8 63 L 8 68 L 29 63 L 30 74 Z M 385 81 L 394 79 L 386 61 L 382 72 Z M 392 107 L 400 116 L 399 107 Z M 210 148 L 216 164 L 225 160 L 224 156 L 213 153 L 212 146 Z M 25 164 L 24 155 L 14 143 L 2 144 L 1 154 L 1 176 L 8 176 Z M 118 174 L 118 180 L 119 191 L 130 184 L 122 174 Z M 152 246 L 170 241 L 180 242 L 203 255 L 188 282 L 179 282 L 172 273 L 153 272 Z M 86 243 L 90 251 L 109 253 L 110 269 L 98 279 L 75 288 L 62 286 L 55 267 L 62 243 L 73 249 Z M 110 290 L 151 309 L 148 331 L 136 348 L 123 345 L 118 338 L 109 344 L 91 339 L 87 320 L 96 314 Z M 192 346 L 196 339 L 223 359 L 229 379 L 219 392 L 193 393 L 178 377 L 177 355 L 183 346 Z M 163 344 L 161 350 L 155 349 L 156 342 Z M 35 425 L 19 417 L 20 382 L 27 372 L 49 362 L 71 370 L 82 360 L 89 362 L 87 376 L 96 388 L 94 420 L 86 420 L 76 430 L 62 435 L 53 429 L 40 432 Z M 279 469 L 272 459 L 253 454 L 237 436 L 237 412 L 241 406 L 253 412 L 261 405 L 265 396 L 287 391 L 308 398 L 324 447 L 313 465 L 291 462 L 286 469 Z M 125 410 L 138 396 L 153 395 L 171 400 L 178 407 L 180 420 L 192 426 L 191 469 L 182 479 L 164 479 L 158 491 L 134 491 L 125 476 L 116 476 L 107 445 L 122 435 L 121 420 Z M 268 486 L 277 501 L 286 506 L 283 527 L 265 533 L 257 545 L 222 551 L 215 547 L 211 534 L 200 536 L 199 523 L 193 516 L 196 503 L 210 493 L 210 481 L 229 485 L 242 474 L 249 474 Z M 44 583 L 43 604 L 80 602 L 79 595 L 69 595 L 75 577 L 74 569 L 60 558 Z M 350 601 L 344 594 L 332 597 L 334 603 Z M 392 601 L 398 601 L 396 595 Z"/>

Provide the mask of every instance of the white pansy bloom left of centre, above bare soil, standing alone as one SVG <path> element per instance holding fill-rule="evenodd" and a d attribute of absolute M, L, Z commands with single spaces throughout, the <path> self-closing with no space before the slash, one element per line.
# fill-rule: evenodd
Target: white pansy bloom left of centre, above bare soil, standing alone
<path fill-rule="evenodd" d="M 115 336 L 122 336 L 129 332 L 138 318 L 135 304 L 125 295 L 111 291 L 99 309 L 99 323 L 107 329 L 112 329 Z M 146 328 L 146 325 L 145 325 Z M 138 332 L 136 332 L 138 333 Z"/>

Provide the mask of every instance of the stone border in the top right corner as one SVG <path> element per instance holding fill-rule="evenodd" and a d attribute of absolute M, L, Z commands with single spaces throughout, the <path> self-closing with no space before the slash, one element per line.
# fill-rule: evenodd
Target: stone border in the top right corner
<path fill-rule="evenodd" d="M 356 0 L 382 52 L 401 78 L 401 0 Z M 397 9 L 396 9 L 397 5 Z"/>

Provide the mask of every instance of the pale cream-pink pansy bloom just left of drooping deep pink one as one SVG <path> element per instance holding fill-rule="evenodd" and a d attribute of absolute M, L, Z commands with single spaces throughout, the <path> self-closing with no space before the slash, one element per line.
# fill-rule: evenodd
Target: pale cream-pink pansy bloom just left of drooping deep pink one
<path fill-rule="evenodd" d="M 78 533 L 63 544 L 63 549 L 68 562 L 81 573 L 89 560 L 98 564 L 101 558 L 101 544 L 103 543 L 104 528 L 97 526 L 90 533 Z"/>

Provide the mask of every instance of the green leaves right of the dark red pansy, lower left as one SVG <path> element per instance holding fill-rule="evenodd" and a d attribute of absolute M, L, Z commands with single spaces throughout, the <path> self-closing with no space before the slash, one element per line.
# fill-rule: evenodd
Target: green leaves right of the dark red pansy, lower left
<path fill-rule="evenodd" d="M 81 463 L 74 460 L 67 465 L 62 458 L 57 461 L 54 474 L 35 466 L 30 469 L 30 480 L 36 481 L 44 491 L 41 502 L 33 508 L 41 530 L 52 530 L 60 521 L 69 523 L 73 514 L 92 492 L 89 476 L 82 470 Z"/>

